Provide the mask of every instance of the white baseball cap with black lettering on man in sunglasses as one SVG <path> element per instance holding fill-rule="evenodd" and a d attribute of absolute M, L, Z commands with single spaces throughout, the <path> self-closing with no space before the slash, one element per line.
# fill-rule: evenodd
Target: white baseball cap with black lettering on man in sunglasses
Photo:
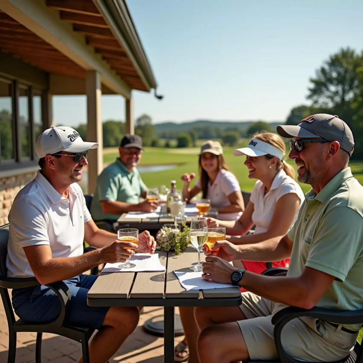
<path fill-rule="evenodd" d="M 38 137 L 35 151 L 40 159 L 58 151 L 83 152 L 97 147 L 97 142 L 83 141 L 79 133 L 72 127 L 52 126 Z"/>

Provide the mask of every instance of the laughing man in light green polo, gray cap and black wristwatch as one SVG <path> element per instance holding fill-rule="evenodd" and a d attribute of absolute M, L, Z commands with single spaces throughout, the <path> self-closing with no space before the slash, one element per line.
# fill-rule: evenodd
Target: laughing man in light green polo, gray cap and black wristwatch
<path fill-rule="evenodd" d="M 249 290 L 242 305 L 196 308 L 200 363 L 277 359 L 272 316 L 286 306 L 339 310 L 363 308 L 363 187 L 348 167 L 354 139 L 338 116 L 315 114 L 298 126 L 278 126 L 292 138 L 289 158 L 298 180 L 310 184 L 298 219 L 286 236 L 250 245 L 216 242 L 203 278 Z M 233 260 L 279 261 L 291 255 L 287 277 L 236 270 Z M 349 355 L 362 323 L 338 325 L 296 318 L 282 330 L 286 352 L 307 362 Z M 211 347 L 213 346 L 213 349 Z"/>

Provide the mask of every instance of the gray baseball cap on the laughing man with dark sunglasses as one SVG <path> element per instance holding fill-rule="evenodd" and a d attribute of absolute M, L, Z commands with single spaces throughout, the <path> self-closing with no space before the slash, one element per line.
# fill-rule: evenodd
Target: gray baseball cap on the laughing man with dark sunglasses
<path fill-rule="evenodd" d="M 301 120 L 299 125 L 279 125 L 277 133 L 285 138 L 323 138 L 338 141 L 340 147 L 352 155 L 354 138 L 349 126 L 337 115 L 315 114 Z"/>

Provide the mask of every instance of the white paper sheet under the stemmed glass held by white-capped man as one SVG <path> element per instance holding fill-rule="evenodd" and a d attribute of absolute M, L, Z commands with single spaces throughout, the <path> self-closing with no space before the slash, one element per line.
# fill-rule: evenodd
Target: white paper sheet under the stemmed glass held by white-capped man
<path fill-rule="evenodd" d="M 122 262 L 116 262 L 115 264 L 106 264 L 102 272 L 157 272 L 166 271 L 159 261 L 159 254 L 150 253 L 136 253 L 130 257 L 130 262 L 136 266 L 131 269 L 119 268 Z"/>

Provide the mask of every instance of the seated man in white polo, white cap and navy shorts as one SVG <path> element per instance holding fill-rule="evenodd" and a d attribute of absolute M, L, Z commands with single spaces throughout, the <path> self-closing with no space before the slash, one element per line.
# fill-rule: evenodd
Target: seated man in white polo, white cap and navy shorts
<path fill-rule="evenodd" d="M 90 357 L 102 363 L 134 331 L 139 310 L 87 306 L 87 291 L 97 276 L 82 273 L 102 263 L 125 262 L 136 248 L 154 253 L 155 241 L 146 231 L 139 235 L 138 246 L 120 242 L 95 225 L 77 182 L 88 164 L 88 150 L 97 147 L 66 126 L 53 126 L 39 136 L 36 153 L 41 170 L 18 193 L 9 213 L 7 269 L 10 277 L 35 276 L 41 284 L 12 291 L 16 314 L 29 322 L 57 318 L 58 297 L 45 285 L 64 281 L 72 293 L 65 319 L 98 330 Z M 83 254 L 83 239 L 98 249 Z"/>

